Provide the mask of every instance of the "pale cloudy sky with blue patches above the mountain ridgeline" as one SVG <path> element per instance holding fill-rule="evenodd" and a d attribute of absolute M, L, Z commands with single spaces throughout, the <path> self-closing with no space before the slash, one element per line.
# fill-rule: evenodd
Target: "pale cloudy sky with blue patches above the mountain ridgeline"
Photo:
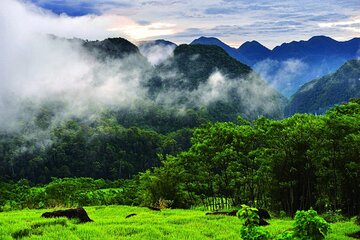
<path fill-rule="evenodd" d="M 17 1 L 17 0 L 12 0 Z M 167 39 L 189 43 L 217 37 L 233 47 L 257 40 L 269 48 L 326 35 L 344 41 L 360 36 L 360 0 L 21 0 L 64 19 L 52 33 L 133 42 Z M 1 5 L 2 3 L 0 3 Z M 0 6 L 1 7 L 1 6 Z M 35 10 L 34 10 L 35 11 Z M 76 27 L 77 29 L 76 29 Z"/>

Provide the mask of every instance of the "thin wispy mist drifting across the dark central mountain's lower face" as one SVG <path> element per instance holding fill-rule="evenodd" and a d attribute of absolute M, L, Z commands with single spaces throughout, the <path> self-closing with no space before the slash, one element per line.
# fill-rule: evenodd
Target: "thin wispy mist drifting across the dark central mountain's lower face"
<path fill-rule="evenodd" d="M 167 78 L 179 76 L 176 70 L 161 74 L 164 81 Z M 191 81 L 184 77 L 181 81 Z M 234 98 L 235 95 L 235 98 Z M 155 101 L 169 107 L 176 106 L 179 109 L 190 107 L 202 108 L 216 102 L 230 103 L 242 106 L 242 114 L 247 118 L 256 118 L 260 115 L 271 116 L 274 113 L 282 112 L 286 99 L 275 101 L 280 94 L 272 87 L 269 87 L 261 77 L 252 72 L 241 78 L 231 78 L 219 69 L 215 69 L 205 82 L 200 82 L 194 90 L 178 90 L 169 88 L 160 92 Z"/>

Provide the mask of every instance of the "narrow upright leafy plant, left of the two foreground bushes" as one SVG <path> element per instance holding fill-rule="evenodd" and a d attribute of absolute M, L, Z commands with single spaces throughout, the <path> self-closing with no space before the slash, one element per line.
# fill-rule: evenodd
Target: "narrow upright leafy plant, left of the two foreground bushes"
<path fill-rule="evenodd" d="M 268 240 L 271 238 L 271 234 L 266 229 L 259 227 L 260 218 L 256 211 L 256 208 L 241 205 L 241 209 L 237 213 L 242 221 L 240 237 L 243 240 Z"/>

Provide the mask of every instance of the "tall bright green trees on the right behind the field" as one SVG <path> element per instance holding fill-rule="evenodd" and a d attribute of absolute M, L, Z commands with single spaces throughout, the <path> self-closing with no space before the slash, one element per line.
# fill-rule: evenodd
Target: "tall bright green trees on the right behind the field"
<path fill-rule="evenodd" d="M 140 175 L 148 204 L 198 202 L 284 210 L 360 210 L 360 101 L 324 116 L 213 123 L 195 130 L 192 146 Z M 220 202 L 216 199 L 222 199 Z M 224 200 L 224 201 L 223 201 Z"/>

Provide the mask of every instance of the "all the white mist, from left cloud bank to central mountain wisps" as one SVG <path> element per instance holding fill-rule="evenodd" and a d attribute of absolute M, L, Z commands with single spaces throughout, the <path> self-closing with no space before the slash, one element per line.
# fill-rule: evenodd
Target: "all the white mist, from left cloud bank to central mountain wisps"
<path fill-rule="evenodd" d="M 95 16 L 58 16 L 13 0 L 1 2 L 0 130 L 34 128 L 39 111 L 50 111 L 50 126 L 28 133 L 29 137 L 35 134 L 34 138 L 45 139 L 48 129 L 71 118 L 93 122 L 104 111 L 136 108 L 145 102 L 182 113 L 186 108 L 232 101 L 234 92 L 239 103 L 246 104 L 245 115 L 271 114 L 280 108 L 268 101 L 275 91 L 258 75 L 230 79 L 217 69 L 196 89 L 169 88 L 150 99 L 147 82 L 157 65 L 171 60 L 175 46 L 148 45 L 140 47 L 144 57 L 133 53 L 111 58 L 86 49 L 87 40 L 74 38 L 103 36 L 104 22 Z M 198 57 L 194 55 L 189 61 Z M 177 69 L 156 74 L 164 81 L 182 78 Z"/>

